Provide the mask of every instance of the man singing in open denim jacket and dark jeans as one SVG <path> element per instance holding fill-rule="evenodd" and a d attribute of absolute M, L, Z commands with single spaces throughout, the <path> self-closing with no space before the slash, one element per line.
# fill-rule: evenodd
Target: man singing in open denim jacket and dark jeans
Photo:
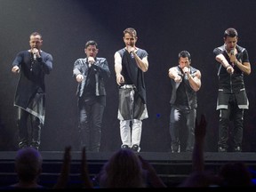
<path fill-rule="evenodd" d="M 101 124 L 106 107 L 105 81 L 110 76 L 108 61 L 97 57 L 97 46 L 95 41 L 88 41 L 84 48 L 86 58 L 76 60 L 73 68 L 78 83 L 80 147 L 92 152 L 100 151 Z"/>

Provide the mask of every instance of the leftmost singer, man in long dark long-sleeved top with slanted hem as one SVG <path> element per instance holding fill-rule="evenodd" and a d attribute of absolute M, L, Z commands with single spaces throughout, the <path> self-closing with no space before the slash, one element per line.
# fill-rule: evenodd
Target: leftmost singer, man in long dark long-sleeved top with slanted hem
<path fill-rule="evenodd" d="M 44 126 L 44 76 L 52 70 L 52 55 L 41 50 L 43 39 L 37 32 L 30 35 L 29 44 L 30 49 L 19 52 L 12 62 L 12 73 L 20 73 L 14 106 L 18 107 L 19 148 L 38 149 Z"/>

